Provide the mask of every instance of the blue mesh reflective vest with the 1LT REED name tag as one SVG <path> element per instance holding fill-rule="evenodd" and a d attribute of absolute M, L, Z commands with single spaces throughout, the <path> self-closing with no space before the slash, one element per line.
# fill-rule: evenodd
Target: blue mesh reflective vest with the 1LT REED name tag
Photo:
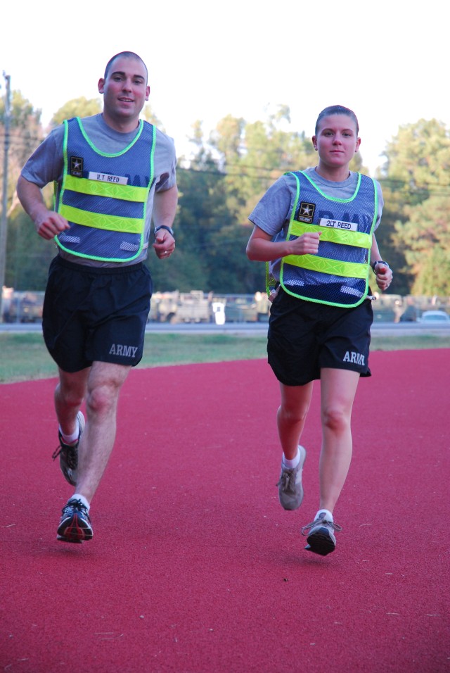
<path fill-rule="evenodd" d="M 98 150 L 78 117 L 64 122 L 64 172 L 55 209 L 70 229 L 63 250 L 94 260 L 128 262 L 143 249 L 147 199 L 153 184 L 155 127 L 141 120 L 117 154 Z"/>

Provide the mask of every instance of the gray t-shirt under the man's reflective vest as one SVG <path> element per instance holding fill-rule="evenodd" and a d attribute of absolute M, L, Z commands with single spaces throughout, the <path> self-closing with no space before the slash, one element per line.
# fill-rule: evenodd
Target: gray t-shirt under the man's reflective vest
<path fill-rule="evenodd" d="M 94 115 L 94 117 L 85 117 L 82 119 L 82 122 L 84 130 L 94 146 L 101 152 L 108 154 L 115 154 L 122 151 L 136 136 L 136 130 L 129 133 L 115 131 L 105 123 L 103 115 L 101 114 Z M 21 172 L 21 175 L 25 177 L 25 180 L 37 184 L 40 188 L 45 187 L 49 182 L 57 182 L 59 185 L 61 184 L 64 168 L 63 138 L 64 127 L 63 125 L 60 125 L 46 137 L 37 150 L 34 151 L 32 156 L 30 156 L 27 163 L 25 163 Z M 154 177 L 155 181 L 148 194 L 146 208 L 144 248 L 139 258 L 136 258 L 131 262 L 101 262 L 71 255 L 70 253 L 58 249 L 60 256 L 71 262 L 97 267 L 124 266 L 127 264 L 136 264 L 146 259 L 148 254 L 148 239 L 150 237 L 153 197 L 155 191 L 166 191 L 176 185 L 176 153 L 174 140 L 159 129 L 156 129 Z"/>

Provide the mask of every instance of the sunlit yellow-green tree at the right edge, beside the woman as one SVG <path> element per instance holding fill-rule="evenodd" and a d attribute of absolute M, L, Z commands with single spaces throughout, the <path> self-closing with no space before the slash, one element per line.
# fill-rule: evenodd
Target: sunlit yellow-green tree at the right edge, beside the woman
<path fill-rule="evenodd" d="M 449 294 L 449 130 L 437 120 L 400 127 L 386 156 L 386 211 L 397 213 L 397 218 L 387 218 L 390 238 L 404 258 L 399 272 L 409 277 L 412 292 Z"/>

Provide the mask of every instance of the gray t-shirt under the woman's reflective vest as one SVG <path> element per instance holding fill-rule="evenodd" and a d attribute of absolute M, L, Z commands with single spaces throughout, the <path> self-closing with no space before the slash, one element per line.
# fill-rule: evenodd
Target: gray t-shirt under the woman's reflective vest
<path fill-rule="evenodd" d="M 315 184 L 320 187 L 326 196 L 332 196 L 333 199 L 349 199 L 356 189 L 358 182 L 358 173 L 350 171 L 349 177 L 343 182 L 333 182 L 321 177 L 315 168 L 307 168 L 303 171 Z M 383 194 L 380 183 L 375 180 L 378 191 L 378 217 L 375 223 L 375 229 L 378 228 L 383 211 Z M 286 173 L 269 187 L 266 194 L 259 200 L 255 208 L 250 213 L 248 219 L 262 229 L 266 234 L 274 237 L 274 241 L 284 241 L 288 233 L 291 213 L 295 205 L 297 195 L 297 182 L 295 177 Z M 374 229 L 374 231 L 375 231 Z M 274 277 L 278 278 L 281 258 L 271 261 L 269 268 Z"/>

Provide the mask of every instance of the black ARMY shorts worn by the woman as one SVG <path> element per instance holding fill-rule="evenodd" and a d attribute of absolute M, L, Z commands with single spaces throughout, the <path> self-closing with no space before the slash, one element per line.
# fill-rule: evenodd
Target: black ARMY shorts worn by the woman
<path fill-rule="evenodd" d="M 320 379 L 322 367 L 371 376 L 372 322 L 369 299 L 356 308 L 340 308 L 304 301 L 280 289 L 269 318 L 269 365 L 286 386 Z"/>

